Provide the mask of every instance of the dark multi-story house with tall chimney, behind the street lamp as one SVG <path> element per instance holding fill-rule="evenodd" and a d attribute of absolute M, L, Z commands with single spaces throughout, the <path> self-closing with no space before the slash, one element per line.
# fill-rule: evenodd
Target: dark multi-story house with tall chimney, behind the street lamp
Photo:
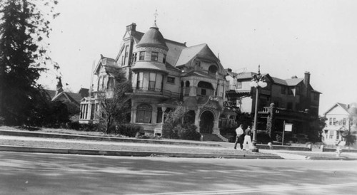
<path fill-rule="evenodd" d="M 234 104 L 242 113 L 253 115 L 256 100 L 256 88 L 252 88 L 251 78 L 256 73 L 233 73 L 227 69 L 229 87 L 227 100 Z M 259 90 L 258 117 L 267 118 L 268 108 L 274 103 L 275 112 L 273 130 L 281 132 L 283 122 L 293 123 L 293 134 L 306 134 L 313 127 L 313 121 L 318 118 L 318 105 L 320 94 L 310 85 L 310 73 L 306 72 L 304 78 L 293 76 L 289 79 L 271 77 L 263 74 L 266 88 Z M 259 119 L 266 122 L 265 119 Z M 261 124 L 261 123 L 260 123 Z M 263 125 L 258 125 L 258 130 L 265 130 Z"/>

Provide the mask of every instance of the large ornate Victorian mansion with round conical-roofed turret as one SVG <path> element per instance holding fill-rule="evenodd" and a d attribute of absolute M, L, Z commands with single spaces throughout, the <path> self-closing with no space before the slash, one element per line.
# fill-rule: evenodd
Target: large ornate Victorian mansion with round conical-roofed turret
<path fill-rule="evenodd" d="M 113 67 L 131 79 L 131 123 L 144 127 L 147 135 L 161 134 L 164 112 L 178 102 L 193 115 L 198 132 L 221 137 L 221 125 L 235 125 L 236 112 L 223 106 L 228 82 L 220 60 L 207 44 L 188 47 L 164 38 L 156 23 L 146 33 L 136 31 L 132 23 L 116 58 L 101 56 L 94 93 L 81 102 L 81 123 L 98 121 L 96 92 L 114 85 L 109 70 Z"/>

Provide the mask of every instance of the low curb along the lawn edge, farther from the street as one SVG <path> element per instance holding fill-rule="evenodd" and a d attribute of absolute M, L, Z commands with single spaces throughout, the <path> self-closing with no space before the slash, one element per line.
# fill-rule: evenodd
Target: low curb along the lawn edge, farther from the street
<path fill-rule="evenodd" d="M 70 134 L 22 132 L 22 131 L 7 131 L 7 130 L 0 130 L 0 135 L 21 136 L 21 137 L 45 137 L 45 138 L 58 138 L 58 139 L 82 139 L 82 140 L 107 141 L 107 142 L 133 142 L 133 143 L 144 143 L 144 144 L 171 144 L 171 145 L 191 145 L 191 146 L 203 146 L 203 147 L 221 147 L 221 144 L 204 143 L 204 142 L 203 143 L 175 142 L 171 140 L 100 137 L 100 136 L 91 136 L 91 135 L 70 135 Z"/>

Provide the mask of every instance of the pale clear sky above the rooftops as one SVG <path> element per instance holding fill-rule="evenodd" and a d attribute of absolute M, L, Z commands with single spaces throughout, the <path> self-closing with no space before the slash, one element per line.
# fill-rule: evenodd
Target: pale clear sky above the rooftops
<path fill-rule="evenodd" d="M 89 88 L 100 55 L 115 58 L 126 26 L 164 38 L 207 43 L 224 68 L 286 79 L 311 73 L 320 115 L 336 102 L 357 102 L 357 1 L 354 0 L 60 0 L 47 41 L 62 82 Z M 39 83 L 56 88 L 54 71 Z"/>

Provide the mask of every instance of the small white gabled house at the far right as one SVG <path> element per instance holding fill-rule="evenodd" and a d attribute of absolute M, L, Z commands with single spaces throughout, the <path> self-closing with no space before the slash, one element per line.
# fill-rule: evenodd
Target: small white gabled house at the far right
<path fill-rule="evenodd" d="M 326 117 L 326 127 L 323 128 L 323 143 L 328 145 L 345 145 L 346 140 L 341 136 L 341 132 L 351 131 L 354 125 L 352 117 L 348 112 L 350 105 L 336 103 L 323 115 Z"/>

